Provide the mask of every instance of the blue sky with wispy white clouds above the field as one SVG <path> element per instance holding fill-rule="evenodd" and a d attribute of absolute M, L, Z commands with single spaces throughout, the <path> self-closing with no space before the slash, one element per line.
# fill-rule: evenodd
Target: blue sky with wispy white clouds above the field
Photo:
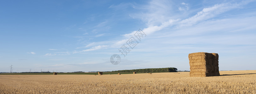
<path fill-rule="evenodd" d="M 195 52 L 218 53 L 219 70 L 255 70 L 255 24 L 255 0 L 4 0 L 0 72 L 189 70 Z M 124 57 L 139 29 L 146 36 Z"/>

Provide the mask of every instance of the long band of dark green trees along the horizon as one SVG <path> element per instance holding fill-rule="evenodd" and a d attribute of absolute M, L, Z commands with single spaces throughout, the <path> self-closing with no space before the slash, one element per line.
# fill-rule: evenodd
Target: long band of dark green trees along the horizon
<path fill-rule="evenodd" d="M 134 70 L 116 70 L 110 72 L 177 72 L 177 68 L 147 68 Z"/>

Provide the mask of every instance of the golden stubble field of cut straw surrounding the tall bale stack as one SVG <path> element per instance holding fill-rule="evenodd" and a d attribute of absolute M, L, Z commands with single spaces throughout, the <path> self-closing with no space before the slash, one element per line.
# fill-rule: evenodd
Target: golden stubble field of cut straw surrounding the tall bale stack
<path fill-rule="evenodd" d="M 1 94 L 256 94 L 256 70 L 121 75 L 0 75 Z"/>

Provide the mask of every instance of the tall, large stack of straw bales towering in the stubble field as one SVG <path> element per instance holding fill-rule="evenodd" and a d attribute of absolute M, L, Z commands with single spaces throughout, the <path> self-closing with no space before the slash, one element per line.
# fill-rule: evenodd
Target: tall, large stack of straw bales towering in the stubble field
<path fill-rule="evenodd" d="M 219 76 L 219 55 L 217 53 L 191 53 L 188 58 L 190 77 Z"/>

